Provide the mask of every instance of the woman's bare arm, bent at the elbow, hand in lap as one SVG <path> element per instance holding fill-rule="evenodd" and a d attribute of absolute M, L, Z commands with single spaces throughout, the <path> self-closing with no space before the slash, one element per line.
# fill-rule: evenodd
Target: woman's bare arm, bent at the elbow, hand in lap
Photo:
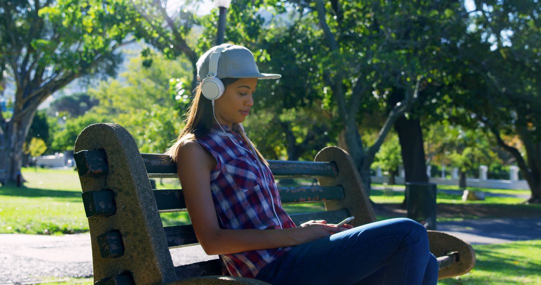
<path fill-rule="evenodd" d="M 182 184 L 186 207 L 204 251 L 209 254 L 230 254 L 249 250 L 299 245 L 324 238 L 344 228 L 311 221 L 289 229 L 222 229 L 210 192 L 210 172 L 215 160 L 195 141 L 186 141 L 177 153 L 177 173 Z"/>

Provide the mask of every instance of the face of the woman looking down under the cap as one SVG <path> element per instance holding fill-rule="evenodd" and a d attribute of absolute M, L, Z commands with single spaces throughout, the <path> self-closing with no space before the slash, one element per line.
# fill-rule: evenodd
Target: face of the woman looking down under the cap
<path fill-rule="evenodd" d="M 232 127 L 246 119 L 254 105 L 253 94 L 257 85 L 257 78 L 240 78 L 226 87 L 223 95 L 214 102 L 214 112 L 220 124 Z"/>

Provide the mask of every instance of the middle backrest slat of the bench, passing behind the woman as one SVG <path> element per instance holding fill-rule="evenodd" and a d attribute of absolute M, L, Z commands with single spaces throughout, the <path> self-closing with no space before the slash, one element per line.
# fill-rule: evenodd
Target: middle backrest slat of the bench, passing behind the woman
<path fill-rule="evenodd" d="M 282 203 L 302 203 L 344 199 L 341 186 L 278 187 Z M 182 189 L 154 190 L 154 198 L 160 213 L 186 210 Z"/>

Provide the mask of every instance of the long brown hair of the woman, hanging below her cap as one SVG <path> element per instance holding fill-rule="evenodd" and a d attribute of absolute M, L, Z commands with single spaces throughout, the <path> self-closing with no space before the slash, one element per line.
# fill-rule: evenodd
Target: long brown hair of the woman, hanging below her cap
<path fill-rule="evenodd" d="M 220 80 L 222 81 L 224 88 L 227 89 L 227 86 L 229 84 L 232 84 L 239 79 L 221 78 Z M 179 162 L 177 152 L 179 150 L 179 147 L 182 145 L 182 142 L 186 140 L 194 140 L 204 137 L 204 135 L 207 135 L 210 132 L 210 129 L 215 123 L 212 110 L 212 101 L 203 96 L 201 84 L 197 84 L 194 93 L 195 96 L 192 100 L 192 105 L 190 105 L 187 112 L 186 125 L 184 126 L 184 129 L 180 133 L 179 137 L 176 139 L 176 142 L 173 144 L 173 146 L 169 147 L 166 151 L 166 154 L 169 154 L 175 162 Z M 264 164 L 268 165 L 265 158 L 263 158 L 263 155 L 252 144 L 252 141 L 248 139 L 246 133 L 242 130 L 242 128 L 240 128 L 239 133 L 242 139 L 247 144 L 254 147 L 255 153 L 256 155 L 258 155 L 259 160 L 262 161 Z"/>

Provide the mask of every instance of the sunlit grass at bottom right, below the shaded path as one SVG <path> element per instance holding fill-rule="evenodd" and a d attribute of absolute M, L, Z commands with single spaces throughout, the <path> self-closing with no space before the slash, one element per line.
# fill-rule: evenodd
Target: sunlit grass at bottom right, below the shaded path
<path fill-rule="evenodd" d="M 473 249 L 477 262 L 471 272 L 438 284 L 541 284 L 541 240 L 474 245 Z"/>

